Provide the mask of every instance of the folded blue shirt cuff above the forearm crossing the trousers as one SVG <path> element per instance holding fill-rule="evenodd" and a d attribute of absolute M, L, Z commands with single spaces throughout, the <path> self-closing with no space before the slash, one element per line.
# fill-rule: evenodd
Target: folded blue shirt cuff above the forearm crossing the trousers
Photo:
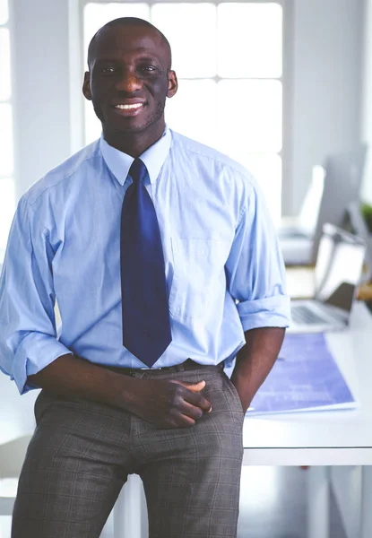
<path fill-rule="evenodd" d="M 39 388 L 27 383 L 27 377 L 37 374 L 41 369 L 61 355 L 73 354 L 63 343 L 48 334 L 30 333 L 23 338 L 15 353 L 12 378 L 21 395 L 32 388 Z"/>

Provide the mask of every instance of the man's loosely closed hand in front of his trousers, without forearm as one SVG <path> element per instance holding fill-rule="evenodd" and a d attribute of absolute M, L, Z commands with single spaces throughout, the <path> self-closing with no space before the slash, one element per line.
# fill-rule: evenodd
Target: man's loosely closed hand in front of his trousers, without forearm
<path fill-rule="evenodd" d="M 212 406 L 201 391 L 205 381 L 195 385 L 177 380 L 138 379 L 134 385 L 131 412 L 158 428 L 189 428 Z"/>

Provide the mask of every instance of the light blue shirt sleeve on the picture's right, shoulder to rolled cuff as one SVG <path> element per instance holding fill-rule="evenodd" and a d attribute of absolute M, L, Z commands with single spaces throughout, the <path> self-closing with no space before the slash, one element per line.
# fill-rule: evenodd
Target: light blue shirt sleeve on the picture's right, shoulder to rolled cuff
<path fill-rule="evenodd" d="M 252 179 L 245 185 L 238 227 L 226 263 L 228 290 L 244 331 L 290 325 L 290 297 L 273 221 Z"/>

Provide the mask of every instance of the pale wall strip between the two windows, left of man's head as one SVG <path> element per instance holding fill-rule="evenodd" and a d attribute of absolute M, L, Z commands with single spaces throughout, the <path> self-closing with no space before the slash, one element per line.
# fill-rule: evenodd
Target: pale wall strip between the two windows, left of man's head
<path fill-rule="evenodd" d="M 11 0 L 17 194 L 70 155 L 68 2 Z"/>

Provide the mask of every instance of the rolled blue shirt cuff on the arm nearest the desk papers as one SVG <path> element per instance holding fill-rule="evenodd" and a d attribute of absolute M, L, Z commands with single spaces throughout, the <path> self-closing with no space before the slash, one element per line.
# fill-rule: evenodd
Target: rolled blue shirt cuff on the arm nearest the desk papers
<path fill-rule="evenodd" d="M 290 325 L 290 296 L 274 295 L 264 299 L 245 300 L 237 305 L 243 330 Z"/>

